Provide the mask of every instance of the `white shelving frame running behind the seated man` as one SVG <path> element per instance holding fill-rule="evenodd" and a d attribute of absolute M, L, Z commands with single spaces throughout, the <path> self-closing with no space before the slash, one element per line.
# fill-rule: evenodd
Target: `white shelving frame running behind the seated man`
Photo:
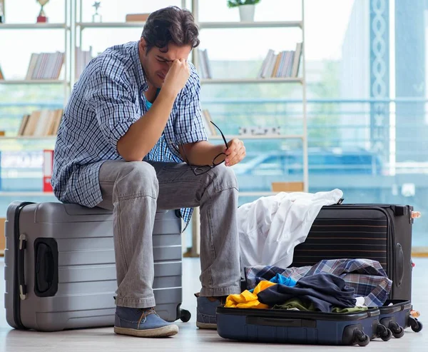
<path fill-rule="evenodd" d="M 66 72 L 69 79 L 64 81 L 0 81 L 0 84 L 64 84 L 71 91 L 74 79 L 74 62 L 76 48 L 81 47 L 81 39 L 84 29 L 118 29 L 118 28 L 143 28 L 145 22 L 102 22 L 92 23 L 82 21 L 82 1 L 83 0 L 65 0 L 66 6 L 66 24 L 1 24 L 0 29 L 63 29 L 65 31 L 65 43 L 67 43 L 67 35 L 70 35 L 70 44 L 66 46 Z M 279 0 L 278 0 L 279 1 Z M 72 4 L 73 3 L 73 4 Z M 182 7 L 185 7 L 185 0 L 181 1 Z M 80 4 L 77 11 L 77 4 Z M 192 12 L 195 16 L 195 21 L 198 22 L 198 0 L 192 1 Z M 307 190 L 307 117 L 306 117 L 306 84 L 305 84 L 305 21 L 304 21 L 304 0 L 302 0 L 302 21 L 254 21 L 254 22 L 198 22 L 200 30 L 207 29 L 251 29 L 251 28 L 300 28 L 302 29 L 302 77 L 300 78 L 267 78 L 267 79 L 202 79 L 201 84 L 301 84 L 303 89 L 303 134 L 302 135 L 266 135 L 266 136 L 226 136 L 228 139 L 234 137 L 241 139 L 302 139 L 303 143 L 303 169 L 304 169 L 304 184 Z M 79 34 L 79 35 L 78 35 Z M 77 39 L 78 38 L 78 39 Z M 135 40 L 135 39 L 130 39 Z M 196 58 L 195 58 L 196 61 Z M 198 65 L 195 62 L 196 66 Z M 68 94 L 65 94 L 68 97 Z M 9 139 L 55 139 L 55 137 L 34 137 L 34 136 L 19 136 L 19 137 L 3 137 L 1 140 Z M 221 136 L 210 136 L 210 139 L 221 139 Z M 241 196 L 270 196 L 275 192 L 241 192 Z M 0 196 L 52 196 L 52 193 L 46 192 L 0 192 Z M 198 221 L 198 209 L 195 211 L 194 219 Z M 193 236 L 195 236 L 195 228 L 193 226 Z M 194 238 L 195 239 L 195 238 Z M 193 243 L 196 243 L 195 241 Z M 199 240 L 197 239 L 197 243 Z"/>

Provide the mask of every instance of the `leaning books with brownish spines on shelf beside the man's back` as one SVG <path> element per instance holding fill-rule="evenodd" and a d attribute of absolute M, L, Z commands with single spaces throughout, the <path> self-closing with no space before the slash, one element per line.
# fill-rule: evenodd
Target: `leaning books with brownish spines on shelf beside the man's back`
<path fill-rule="evenodd" d="M 30 115 L 24 115 L 18 136 L 56 136 L 62 115 L 63 109 L 35 110 Z"/>

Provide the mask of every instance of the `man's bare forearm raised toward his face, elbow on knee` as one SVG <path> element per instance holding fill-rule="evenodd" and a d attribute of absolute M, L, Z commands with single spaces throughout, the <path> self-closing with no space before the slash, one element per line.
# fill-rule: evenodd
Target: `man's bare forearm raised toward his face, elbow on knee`
<path fill-rule="evenodd" d="M 151 109 L 118 141 L 118 153 L 126 161 L 141 161 L 161 138 L 173 109 L 175 96 L 161 91 Z"/>

